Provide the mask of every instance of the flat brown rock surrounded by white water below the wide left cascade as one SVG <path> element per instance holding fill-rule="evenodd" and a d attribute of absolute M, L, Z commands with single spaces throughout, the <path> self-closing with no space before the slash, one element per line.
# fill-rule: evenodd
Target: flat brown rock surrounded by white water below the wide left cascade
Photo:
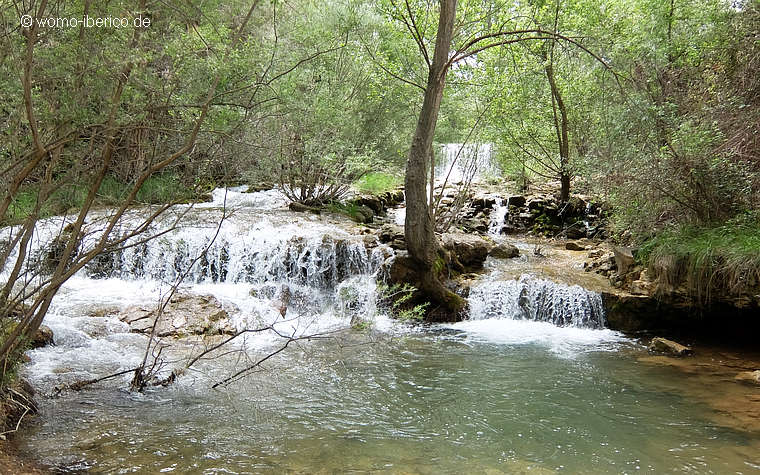
<path fill-rule="evenodd" d="M 156 315 L 155 307 L 132 306 L 120 313 L 119 320 L 128 323 L 133 332 L 150 333 Z M 234 333 L 235 328 L 227 311 L 211 295 L 175 295 L 156 325 L 156 335 L 159 337 Z"/>

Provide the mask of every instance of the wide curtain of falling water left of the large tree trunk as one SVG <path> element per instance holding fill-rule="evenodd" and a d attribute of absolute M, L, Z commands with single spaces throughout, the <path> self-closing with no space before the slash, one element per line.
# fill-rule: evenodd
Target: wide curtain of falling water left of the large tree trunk
<path fill-rule="evenodd" d="M 215 229 L 182 229 L 103 255 L 88 272 L 96 278 L 174 281 L 200 256 L 186 282 L 288 282 L 328 289 L 348 277 L 374 273 L 384 258 L 382 248 L 370 251 L 360 239 L 334 228 L 307 235 L 299 231 L 266 221 L 250 229 L 224 223 L 212 243 Z"/>

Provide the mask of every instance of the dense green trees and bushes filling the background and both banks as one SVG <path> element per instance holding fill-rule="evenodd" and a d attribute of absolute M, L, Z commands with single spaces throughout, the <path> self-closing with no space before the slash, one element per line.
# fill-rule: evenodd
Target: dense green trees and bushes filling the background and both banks
<path fill-rule="evenodd" d="M 415 154 L 424 182 L 429 144 L 409 149 L 427 94 L 427 139 L 493 143 L 505 192 L 557 180 L 562 199 L 610 203 L 616 239 L 655 272 L 760 281 L 760 2 L 444 3 L 446 22 L 424 0 L 3 1 L 0 223 L 18 226 L 0 267 L 53 214 L 115 207 L 110 230 L 132 204 L 240 182 L 323 205 L 397 186 Z M 82 17 L 150 24 L 49 24 Z M 3 283 L 0 314 L 21 315 L 4 334 L 38 326 L 97 255 L 73 246 L 45 287 Z"/>

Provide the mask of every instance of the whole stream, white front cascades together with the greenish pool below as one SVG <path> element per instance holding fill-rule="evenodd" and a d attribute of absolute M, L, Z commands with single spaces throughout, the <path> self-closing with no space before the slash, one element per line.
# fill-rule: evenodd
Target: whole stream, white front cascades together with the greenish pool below
<path fill-rule="evenodd" d="M 569 255 L 532 259 L 517 243 L 520 258 L 486 262 L 469 320 L 412 325 L 376 305 L 388 248 L 286 205 L 276 191 L 217 190 L 178 229 L 72 278 L 45 320 L 55 346 L 28 353 L 41 414 L 20 449 L 59 473 L 760 471 L 760 434 L 716 422 L 677 370 L 641 364 Z M 237 329 L 326 338 L 216 389 L 282 338 L 246 334 L 144 394 L 126 390 L 129 375 L 57 394 L 139 364 L 147 337 L 117 314 L 157 305 L 206 248 L 181 292 L 213 295 Z M 286 287 L 283 316 L 272 302 Z M 350 329 L 356 317 L 369 328 Z M 204 345 L 173 345 L 163 371 Z"/>

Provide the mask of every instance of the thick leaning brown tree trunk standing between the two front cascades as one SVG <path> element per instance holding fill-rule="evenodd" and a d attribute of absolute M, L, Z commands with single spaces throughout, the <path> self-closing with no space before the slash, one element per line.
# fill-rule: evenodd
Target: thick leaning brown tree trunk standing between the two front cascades
<path fill-rule="evenodd" d="M 456 3 L 456 0 L 441 1 L 435 53 L 428 74 L 425 99 L 409 149 L 404 181 L 406 192 L 404 233 L 409 256 L 416 265 L 420 291 L 428 300 L 450 314 L 459 313 L 464 308 L 465 302 L 461 297 L 447 290 L 439 280 L 438 271 L 442 266 L 436 265 L 436 261 L 442 261 L 439 260 L 441 259 L 440 247 L 435 235 L 432 207 L 431 203 L 428 203 L 427 171 L 428 167 L 432 166 L 429 157 L 446 81 Z M 434 184 L 431 183 L 430 186 Z"/>

